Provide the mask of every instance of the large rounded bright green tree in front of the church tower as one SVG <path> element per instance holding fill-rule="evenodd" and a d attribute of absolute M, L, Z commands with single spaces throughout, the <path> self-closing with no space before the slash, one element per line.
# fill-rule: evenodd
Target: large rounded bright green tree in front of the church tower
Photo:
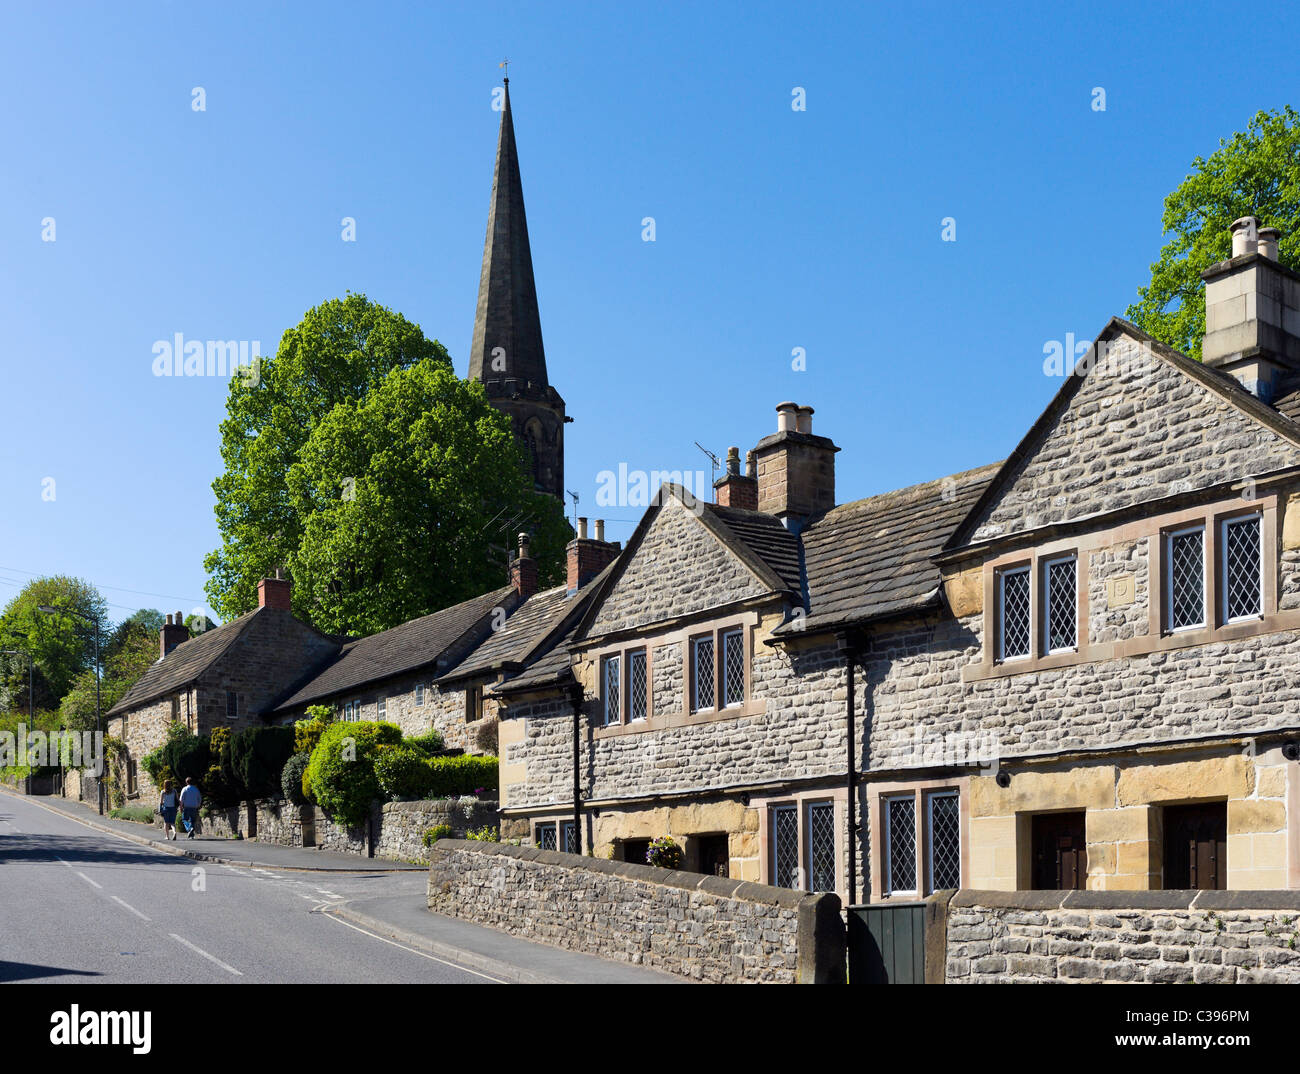
<path fill-rule="evenodd" d="M 502 584 L 488 546 L 512 542 L 511 520 L 536 534 L 543 576 L 559 567 L 562 507 L 523 477 L 508 420 L 437 341 L 364 295 L 309 309 L 256 381 L 231 380 L 226 415 L 222 546 L 205 560 L 226 620 L 287 567 L 300 618 L 393 627 Z"/>

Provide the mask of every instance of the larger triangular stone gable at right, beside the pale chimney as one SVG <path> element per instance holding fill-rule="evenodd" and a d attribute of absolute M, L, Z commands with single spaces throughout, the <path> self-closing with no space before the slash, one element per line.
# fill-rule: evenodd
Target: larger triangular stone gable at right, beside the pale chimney
<path fill-rule="evenodd" d="M 1300 464 L 1300 449 L 1124 338 L 1034 445 L 971 540 Z"/>

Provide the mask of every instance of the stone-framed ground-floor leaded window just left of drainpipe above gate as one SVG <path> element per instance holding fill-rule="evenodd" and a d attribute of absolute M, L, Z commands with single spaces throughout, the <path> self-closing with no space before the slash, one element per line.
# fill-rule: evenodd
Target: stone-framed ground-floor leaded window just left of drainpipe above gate
<path fill-rule="evenodd" d="M 845 875 L 844 788 L 754 798 L 762 883 L 794 891 L 840 891 Z"/>

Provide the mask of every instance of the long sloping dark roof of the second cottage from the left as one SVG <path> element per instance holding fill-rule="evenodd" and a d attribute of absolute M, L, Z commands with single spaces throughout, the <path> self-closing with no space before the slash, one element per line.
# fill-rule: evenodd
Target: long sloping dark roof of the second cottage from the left
<path fill-rule="evenodd" d="M 272 711 L 282 713 L 432 664 L 494 607 L 508 606 L 512 593 L 507 585 L 390 631 L 350 641 L 335 659 L 276 703 Z"/>

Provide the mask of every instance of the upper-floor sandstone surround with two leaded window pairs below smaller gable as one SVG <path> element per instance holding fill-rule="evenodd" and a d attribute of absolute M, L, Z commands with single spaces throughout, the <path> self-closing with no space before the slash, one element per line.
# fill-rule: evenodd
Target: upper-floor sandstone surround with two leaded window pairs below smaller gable
<path fill-rule="evenodd" d="M 740 716 L 753 716 L 766 711 L 767 702 L 753 696 L 753 662 L 754 662 L 754 633 L 758 629 L 759 615 L 757 611 L 744 611 L 715 620 L 684 625 L 671 633 L 654 636 L 638 636 L 634 640 L 624 640 L 616 645 L 606 645 L 589 650 L 584 654 L 584 661 L 590 662 L 592 675 L 598 692 L 598 709 L 595 711 L 594 736 L 597 739 L 640 733 L 645 731 L 660 731 L 668 727 L 684 727 L 697 723 L 711 723 L 714 720 L 737 719 Z M 708 641 L 711 646 L 697 646 L 699 641 Z M 675 694 L 670 711 L 654 713 L 655 702 L 655 650 L 663 648 L 680 648 L 682 681 L 680 694 Z M 712 672 L 711 680 L 703 684 L 697 683 L 693 668 L 693 655 L 701 649 L 708 653 L 711 648 L 712 663 L 708 668 Z M 629 688 L 632 676 L 640 675 L 641 658 L 629 661 L 632 653 L 645 654 L 645 711 L 644 719 L 633 719 L 629 713 L 633 705 L 629 703 Z M 610 671 L 607 661 L 616 658 L 616 672 Z M 632 675 L 629 675 L 629 671 Z M 612 719 L 612 680 L 607 681 L 607 675 L 618 675 L 618 714 Z M 671 681 L 671 680 L 670 680 Z M 703 689 L 701 689 L 703 687 Z M 697 696 L 707 707 L 696 705 Z"/>

